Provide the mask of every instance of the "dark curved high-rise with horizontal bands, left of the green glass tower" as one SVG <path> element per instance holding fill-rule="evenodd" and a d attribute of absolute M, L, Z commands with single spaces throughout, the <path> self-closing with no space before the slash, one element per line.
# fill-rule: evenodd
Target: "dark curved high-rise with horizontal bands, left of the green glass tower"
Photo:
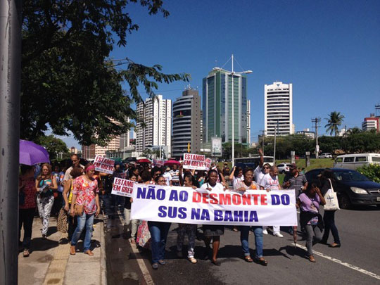
<path fill-rule="evenodd" d="M 201 96 L 188 88 L 173 103 L 172 157 L 179 158 L 190 152 L 201 151 Z"/>

